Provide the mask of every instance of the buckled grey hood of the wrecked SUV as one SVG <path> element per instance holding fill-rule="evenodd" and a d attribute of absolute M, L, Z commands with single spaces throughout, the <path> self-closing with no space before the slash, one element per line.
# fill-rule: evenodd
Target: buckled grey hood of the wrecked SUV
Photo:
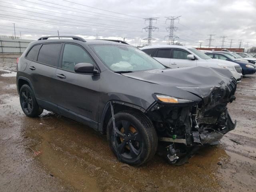
<path fill-rule="evenodd" d="M 156 69 L 125 73 L 124 76 L 176 87 L 218 86 L 220 82 L 230 81 L 232 73 L 224 68 L 185 67 L 178 69 Z"/>

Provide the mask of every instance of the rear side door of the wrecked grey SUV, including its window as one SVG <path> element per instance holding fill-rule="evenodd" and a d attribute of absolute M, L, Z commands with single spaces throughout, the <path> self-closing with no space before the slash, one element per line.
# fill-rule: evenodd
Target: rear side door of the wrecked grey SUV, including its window
<path fill-rule="evenodd" d="M 38 104 L 53 111 L 57 111 L 55 72 L 61 47 L 62 43 L 41 44 L 38 54 L 27 69 Z"/>

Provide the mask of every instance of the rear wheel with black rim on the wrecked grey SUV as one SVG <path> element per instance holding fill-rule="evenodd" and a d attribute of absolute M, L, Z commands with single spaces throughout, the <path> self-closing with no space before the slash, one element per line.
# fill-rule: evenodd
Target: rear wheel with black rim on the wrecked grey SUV
<path fill-rule="evenodd" d="M 24 114 L 29 117 L 37 117 L 44 110 L 37 104 L 34 92 L 27 84 L 20 88 L 20 106 Z"/>

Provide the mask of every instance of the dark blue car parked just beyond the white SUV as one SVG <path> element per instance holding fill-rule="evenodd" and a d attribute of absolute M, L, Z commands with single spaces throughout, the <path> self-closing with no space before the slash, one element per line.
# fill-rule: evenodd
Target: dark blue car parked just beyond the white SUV
<path fill-rule="evenodd" d="M 253 66 L 253 64 L 250 64 L 250 63 L 240 60 L 240 59 L 236 59 L 236 58 L 230 56 L 226 52 L 208 52 L 205 54 L 210 56 L 211 58 L 232 61 L 234 63 L 239 64 L 242 68 L 243 75 L 254 74 L 256 72 L 256 68 Z"/>

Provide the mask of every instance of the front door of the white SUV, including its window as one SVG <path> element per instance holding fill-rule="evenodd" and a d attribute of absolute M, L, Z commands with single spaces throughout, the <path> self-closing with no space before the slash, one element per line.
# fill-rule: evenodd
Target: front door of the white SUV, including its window
<path fill-rule="evenodd" d="M 171 68 L 181 68 L 181 67 L 193 67 L 196 66 L 196 60 L 189 60 L 187 55 L 191 54 L 190 52 L 180 49 L 173 48 L 172 58 L 170 59 Z"/>

